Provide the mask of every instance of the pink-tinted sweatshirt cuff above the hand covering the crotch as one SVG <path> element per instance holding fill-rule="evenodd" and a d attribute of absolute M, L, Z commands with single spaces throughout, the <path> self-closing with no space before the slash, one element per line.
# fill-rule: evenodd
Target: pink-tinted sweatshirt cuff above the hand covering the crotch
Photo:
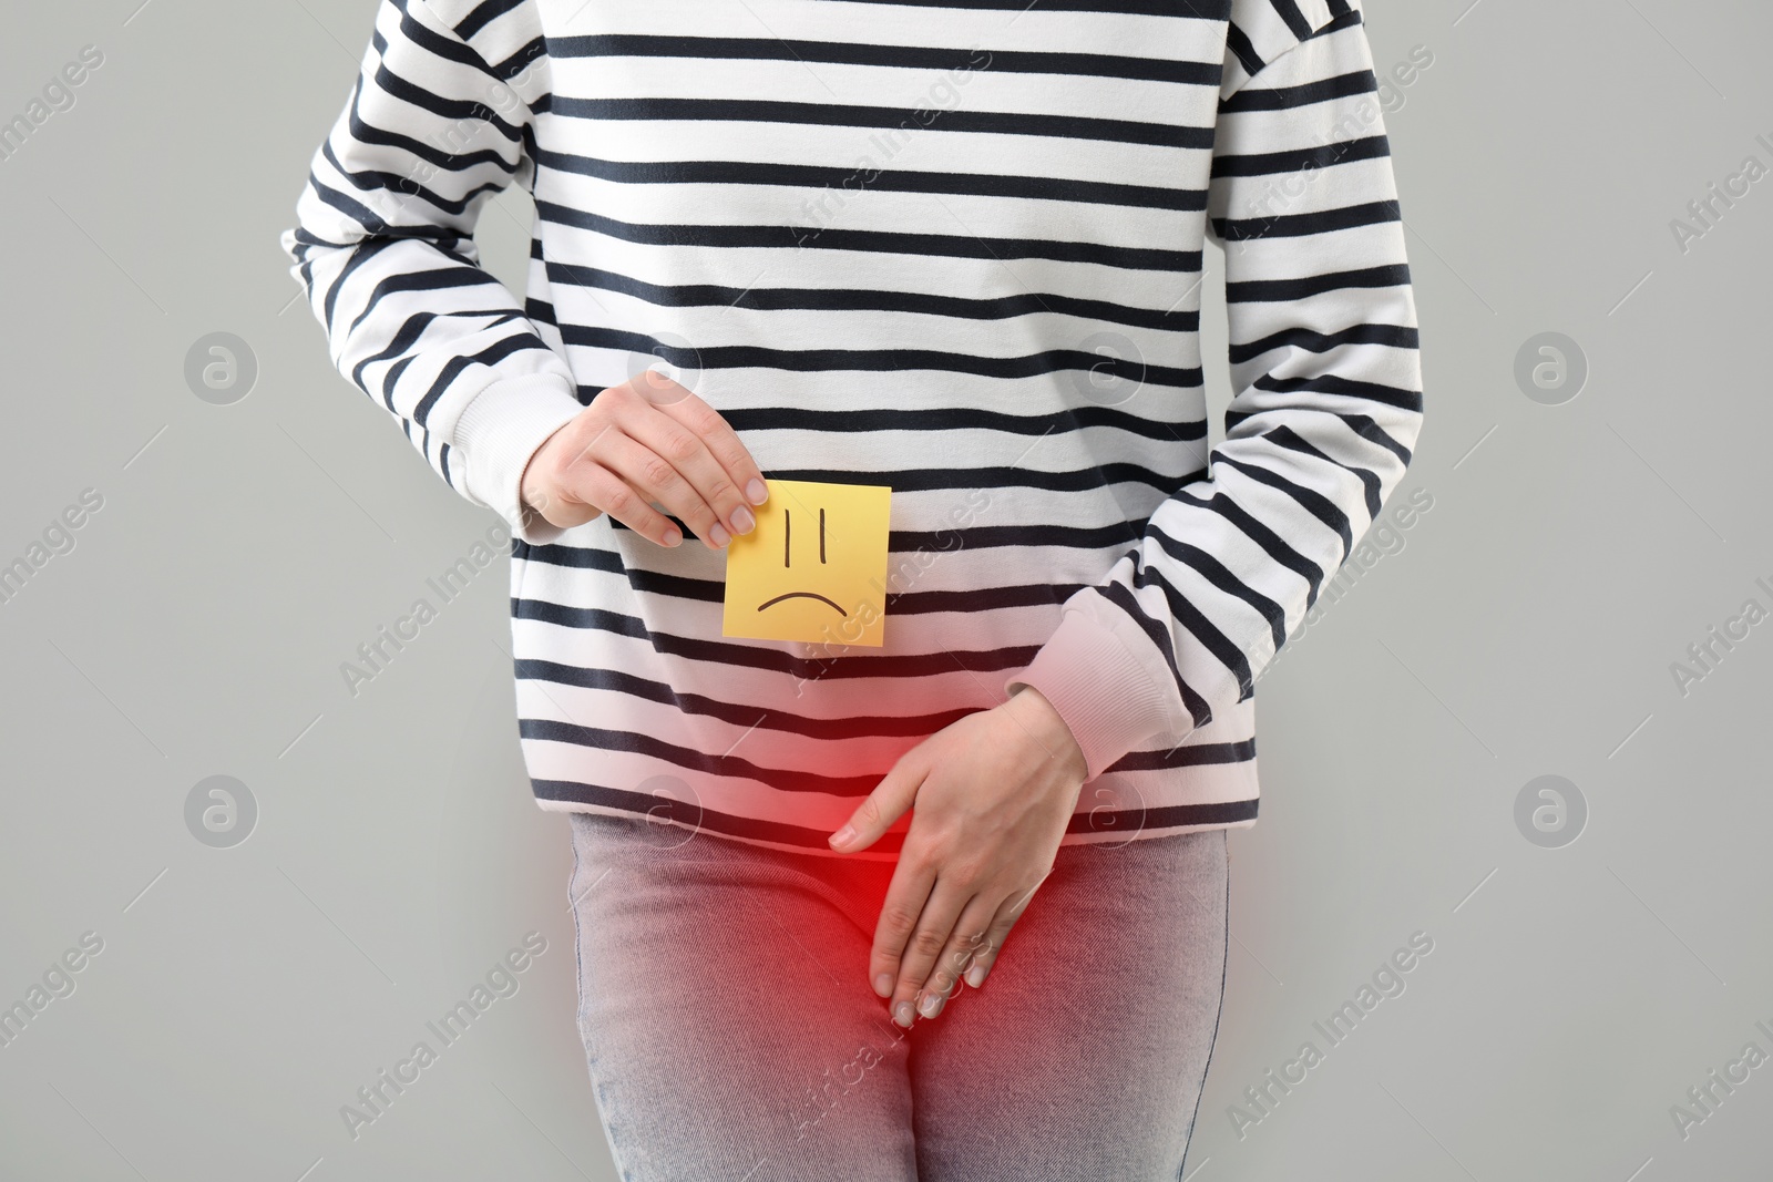
<path fill-rule="evenodd" d="M 1021 686 L 1039 689 L 1066 719 L 1083 750 L 1085 780 L 1151 735 L 1175 728 L 1179 718 L 1184 719 L 1179 737 L 1193 730 L 1193 721 L 1170 702 L 1170 691 L 1152 680 L 1113 627 L 1083 608 L 1066 608 L 1028 668 L 1004 682 L 1007 693 Z"/>

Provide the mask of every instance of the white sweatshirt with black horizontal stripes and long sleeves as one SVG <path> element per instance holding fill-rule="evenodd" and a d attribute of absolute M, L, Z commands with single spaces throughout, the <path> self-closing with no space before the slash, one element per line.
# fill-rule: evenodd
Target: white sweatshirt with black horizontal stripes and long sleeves
<path fill-rule="evenodd" d="M 473 241 L 512 183 L 521 299 Z M 539 805 L 782 849 L 1023 686 L 1085 755 L 1066 844 L 1254 824 L 1255 679 L 1422 416 L 1358 0 L 381 0 L 280 245 L 512 535 Z M 525 510 L 660 363 L 766 477 L 892 489 L 883 645 L 729 638 L 723 551 Z"/>

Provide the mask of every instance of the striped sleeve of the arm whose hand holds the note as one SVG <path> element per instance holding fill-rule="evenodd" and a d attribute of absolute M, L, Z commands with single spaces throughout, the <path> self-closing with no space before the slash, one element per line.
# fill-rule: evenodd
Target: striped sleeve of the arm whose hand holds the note
<path fill-rule="evenodd" d="M 339 372 L 530 542 L 558 530 L 521 512 L 523 466 L 583 408 L 566 358 L 480 268 L 473 227 L 493 193 L 534 177 L 541 50 L 512 21 L 452 27 L 426 0 L 383 0 L 280 237 Z"/>

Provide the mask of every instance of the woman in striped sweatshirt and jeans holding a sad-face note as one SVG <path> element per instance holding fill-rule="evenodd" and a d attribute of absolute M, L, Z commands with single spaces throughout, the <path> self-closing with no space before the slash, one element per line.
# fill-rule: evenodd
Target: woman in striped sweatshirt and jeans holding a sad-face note
<path fill-rule="evenodd" d="M 514 532 L 624 1178 L 1179 1177 L 1254 680 L 1420 427 L 1374 94 L 1353 0 L 383 0 L 282 245 Z M 777 546 L 872 592 L 759 640 Z"/>

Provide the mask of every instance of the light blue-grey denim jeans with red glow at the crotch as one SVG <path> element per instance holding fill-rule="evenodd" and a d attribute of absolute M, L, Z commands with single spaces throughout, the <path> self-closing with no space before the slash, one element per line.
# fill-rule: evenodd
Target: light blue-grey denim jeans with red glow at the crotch
<path fill-rule="evenodd" d="M 1175 1182 L 1225 831 L 1062 845 L 984 980 L 895 1026 L 890 861 L 569 813 L 578 1028 L 624 1182 Z"/>

